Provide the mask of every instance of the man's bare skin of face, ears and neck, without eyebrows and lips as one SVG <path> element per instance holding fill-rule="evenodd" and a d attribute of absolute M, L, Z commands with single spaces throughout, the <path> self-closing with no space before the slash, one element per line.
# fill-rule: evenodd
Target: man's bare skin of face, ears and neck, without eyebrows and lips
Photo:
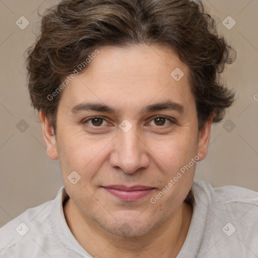
<path fill-rule="evenodd" d="M 156 204 L 150 199 L 198 153 L 202 154 L 199 161 L 206 157 L 211 120 L 198 131 L 188 67 L 170 48 L 105 46 L 99 51 L 87 70 L 63 89 L 56 136 L 40 111 L 47 155 L 59 159 L 70 197 L 63 208 L 68 226 L 93 257 L 176 257 L 192 217 L 192 208 L 183 200 L 196 163 Z M 175 68 L 184 73 L 178 82 L 170 76 Z M 140 112 L 167 100 L 180 103 L 184 112 Z M 117 109 L 117 114 L 91 110 L 74 114 L 72 108 L 83 101 L 105 104 Z M 155 115 L 172 120 L 159 123 Z M 84 123 L 93 116 L 106 120 Z M 119 128 L 124 119 L 132 124 L 127 133 Z M 72 171 L 81 176 L 76 184 L 68 180 Z M 111 184 L 155 189 L 142 199 L 127 202 L 102 187 Z"/>

